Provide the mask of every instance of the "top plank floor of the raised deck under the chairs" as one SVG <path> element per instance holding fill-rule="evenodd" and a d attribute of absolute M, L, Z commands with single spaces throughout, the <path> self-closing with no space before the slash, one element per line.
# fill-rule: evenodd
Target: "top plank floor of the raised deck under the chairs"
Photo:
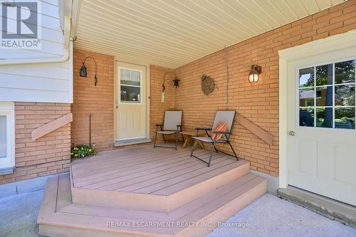
<path fill-rule="evenodd" d="M 209 151 L 198 149 L 204 159 Z M 189 157 L 190 149 L 152 145 L 101 152 L 71 164 L 73 186 L 83 189 L 170 195 L 246 164 L 226 154 L 214 153 L 211 167 Z"/>

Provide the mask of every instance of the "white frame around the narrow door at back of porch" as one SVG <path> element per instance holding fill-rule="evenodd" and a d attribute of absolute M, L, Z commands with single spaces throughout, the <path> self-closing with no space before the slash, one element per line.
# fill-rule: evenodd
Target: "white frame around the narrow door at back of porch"
<path fill-rule="evenodd" d="M 146 77 L 145 78 L 142 78 L 142 80 L 146 80 L 146 137 L 145 139 L 147 140 L 150 140 L 150 65 L 148 64 L 137 64 L 137 63 L 130 63 L 130 62 L 127 62 L 127 61 L 122 61 L 122 60 L 118 60 L 116 57 L 115 57 L 115 65 L 114 65 L 114 76 L 115 76 L 115 80 L 114 80 L 114 98 L 113 98 L 113 106 L 114 106 L 114 142 L 117 142 L 117 137 L 116 137 L 116 128 L 117 128 L 117 113 L 116 113 L 116 109 L 115 109 L 115 106 L 116 106 L 116 98 L 117 98 L 117 93 L 119 93 L 117 91 L 117 63 L 127 63 L 127 64 L 132 64 L 132 65 L 138 65 L 138 66 L 141 66 L 141 67 L 145 67 L 145 70 L 146 70 Z M 134 142 L 135 143 L 135 142 Z M 140 142 L 137 142 L 137 143 L 140 143 Z"/>

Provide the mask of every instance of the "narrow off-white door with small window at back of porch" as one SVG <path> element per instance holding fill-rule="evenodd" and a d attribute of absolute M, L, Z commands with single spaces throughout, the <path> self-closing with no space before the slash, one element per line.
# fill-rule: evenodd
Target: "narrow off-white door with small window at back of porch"
<path fill-rule="evenodd" d="M 117 141 L 144 139 L 147 127 L 147 78 L 145 66 L 117 62 L 115 98 Z"/>

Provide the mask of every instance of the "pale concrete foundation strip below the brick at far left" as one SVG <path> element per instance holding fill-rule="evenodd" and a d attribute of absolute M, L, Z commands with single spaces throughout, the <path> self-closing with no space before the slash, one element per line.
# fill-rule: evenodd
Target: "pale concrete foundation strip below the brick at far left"
<path fill-rule="evenodd" d="M 68 173 L 68 172 L 66 172 Z M 56 176 L 58 174 L 38 177 L 34 179 L 26 179 L 22 181 L 16 181 L 9 184 L 0 185 L 0 199 L 6 196 L 14 196 L 17 194 L 26 194 L 31 191 L 38 191 L 44 189 L 46 181 L 49 177 Z"/>

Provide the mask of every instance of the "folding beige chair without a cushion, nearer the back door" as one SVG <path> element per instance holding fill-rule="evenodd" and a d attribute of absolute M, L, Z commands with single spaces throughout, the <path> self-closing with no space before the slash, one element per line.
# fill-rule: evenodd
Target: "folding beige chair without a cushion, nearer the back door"
<path fill-rule="evenodd" d="M 157 134 L 161 134 L 163 136 L 164 142 L 166 142 L 166 138 L 164 135 L 176 135 L 176 144 L 175 147 L 167 147 L 167 148 L 175 148 L 177 149 L 178 143 L 178 135 L 179 132 L 182 132 L 182 111 L 165 111 L 164 112 L 164 122 L 163 125 L 156 125 L 156 135 L 155 135 L 155 142 L 153 148 L 155 147 L 167 147 L 167 146 L 158 146 L 156 144 Z M 160 131 L 158 130 L 160 127 Z M 183 135 L 182 135 L 183 138 Z M 184 142 L 184 138 L 183 138 Z"/>

